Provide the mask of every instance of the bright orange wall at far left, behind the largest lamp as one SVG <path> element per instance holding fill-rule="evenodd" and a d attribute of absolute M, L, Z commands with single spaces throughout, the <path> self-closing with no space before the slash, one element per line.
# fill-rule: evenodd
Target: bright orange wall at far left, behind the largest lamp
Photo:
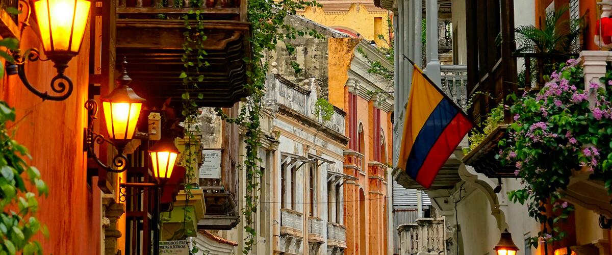
<path fill-rule="evenodd" d="M 100 250 L 100 226 L 94 223 L 100 218 L 100 209 L 94 206 L 99 200 L 93 199 L 86 182 L 83 153 L 83 104 L 89 74 L 89 35 L 85 37 L 80 55 L 70 61 L 66 71 L 75 85 L 67 100 L 42 102 L 17 75 L 5 76 L 0 85 L 0 99 L 17 108 L 15 139 L 28 147 L 33 159 L 26 161 L 40 170 L 49 188 L 48 198 L 39 198 L 37 217 L 47 225 L 50 238 L 45 240 L 40 234 L 35 237 L 45 254 L 98 254 Z M 42 51 L 39 42 L 32 29 L 26 28 L 21 49 L 38 47 Z M 51 61 L 26 64 L 29 81 L 40 91 L 50 90 L 55 73 Z"/>

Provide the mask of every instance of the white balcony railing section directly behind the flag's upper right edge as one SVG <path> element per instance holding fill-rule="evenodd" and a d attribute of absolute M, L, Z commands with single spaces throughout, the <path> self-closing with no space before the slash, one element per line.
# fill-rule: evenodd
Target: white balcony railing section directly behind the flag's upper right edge
<path fill-rule="evenodd" d="M 457 103 L 463 111 L 468 103 L 468 66 L 467 65 L 441 65 L 442 91 Z"/>

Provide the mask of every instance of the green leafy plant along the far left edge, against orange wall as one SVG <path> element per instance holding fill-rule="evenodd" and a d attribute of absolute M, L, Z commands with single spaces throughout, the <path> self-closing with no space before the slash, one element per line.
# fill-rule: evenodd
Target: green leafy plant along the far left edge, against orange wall
<path fill-rule="evenodd" d="M 8 10 L 17 13 L 17 10 Z M 0 46 L 10 51 L 18 51 L 17 39 L 0 40 Z M 13 62 L 12 56 L 6 51 L 0 51 L 0 57 L 7 62 Z M 0 65 L 0 78 L 4 76 L 4 67 Z M 32 157 L 28 149 L 13 138 L 16 123 L 15 108 L 0 100 L 0 254 L 24 255 L 42 254 L 42 246 L 37 240 L 32 240 L 35 234 L 42 232 L 49 237 L 47 227 L 35 217 L 38 211 L 38 200 L 33 189 L 39 196 L 48 196 L 49 190 L 40 179 L 40 172 L 34 166 L 29 166 L 23 158 Z M 7 124 L 13 122 L 8 127 Z M 18 122 L 18 121 L 17 121 Z M 26 181 L 31 187 L 26 187 Z"/>

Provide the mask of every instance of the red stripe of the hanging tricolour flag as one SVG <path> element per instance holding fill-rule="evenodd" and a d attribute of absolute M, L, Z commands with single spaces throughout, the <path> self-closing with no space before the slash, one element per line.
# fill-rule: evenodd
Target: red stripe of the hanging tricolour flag
<path fill-rule="evenodd" d="M 438 141 L 431 147 L 427 158 L 419 169 L 416 182 L 425 188 L 431 188 L 431 184 L 436 179 L 442 164 L 446 163 L 450 155 L 455 152 L 459 142 L 471 128 L 471 122 L 463 114 L 457 114 L 444 128 Z"/>

